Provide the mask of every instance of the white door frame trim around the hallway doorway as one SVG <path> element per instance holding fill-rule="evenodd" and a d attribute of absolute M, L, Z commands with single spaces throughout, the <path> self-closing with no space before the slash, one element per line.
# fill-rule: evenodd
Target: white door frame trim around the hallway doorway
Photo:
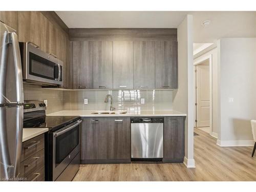
<path fill-rule="evenodd" d="M 206 55 L 201 59 L 194 62 L 194 95 L 195 95 L 195 103 L 197 102 L 197 92 L 196 92 L 196 66 L 200 65 L 202 62 L 209 60 L 209 80 L 210 80 L 210 122 L 209 122 L 209 135 L 212 136 L 212 54 Z M 197 108 L 195 104 L 195 116 L 194 116 L 194 127 L 196 127 L 196 115 Z"/>

